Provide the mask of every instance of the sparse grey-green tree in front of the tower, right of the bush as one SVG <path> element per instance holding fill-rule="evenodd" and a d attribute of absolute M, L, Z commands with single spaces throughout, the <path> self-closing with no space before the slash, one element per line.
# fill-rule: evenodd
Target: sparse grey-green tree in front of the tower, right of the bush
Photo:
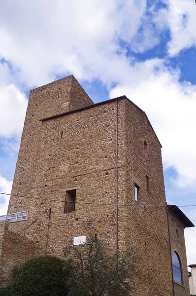
<path fill-rule="evenodd" d="M 100 240 L 91 240 L 84 245 L 70 246 L 65 256 L 71 258 L 66 261 L 67 268 L 70 270 L 69 264 L 72 266 L 68 296 L 129 295 L 130 280 L 136 275 L 138 261 L 135 248 L 122 255 L 112 253 Z"/>

